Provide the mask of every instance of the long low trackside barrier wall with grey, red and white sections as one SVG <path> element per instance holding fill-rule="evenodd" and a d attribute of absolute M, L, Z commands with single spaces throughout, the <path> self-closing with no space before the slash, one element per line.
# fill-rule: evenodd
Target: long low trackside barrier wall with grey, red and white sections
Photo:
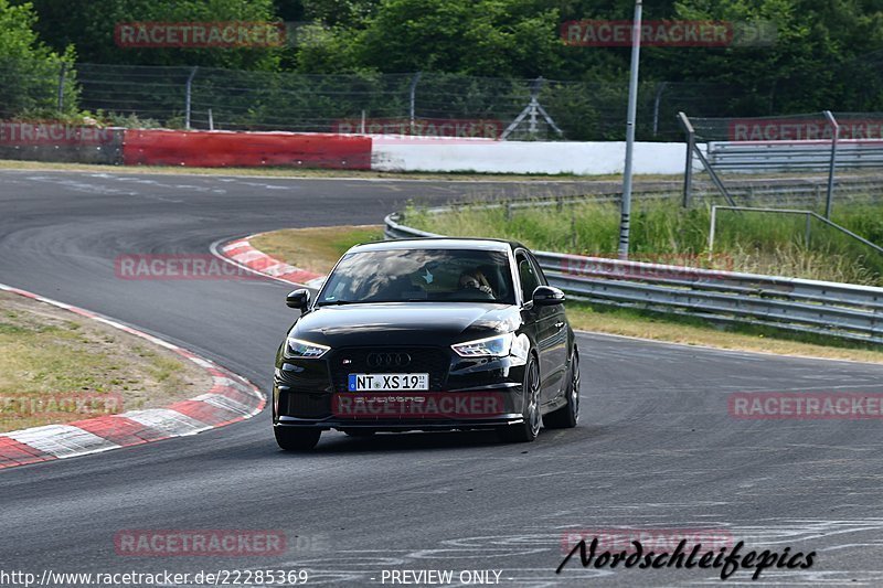
<path fill-rule="evenodd" d="M 182 131 L 0 124 L 0 159 L 175 167 L 416 172 L 623 172 L 625 142 L 497 141 L 389 135 Z M 683 172 L 683 143 L 638 142 L 635 173 Z"/>

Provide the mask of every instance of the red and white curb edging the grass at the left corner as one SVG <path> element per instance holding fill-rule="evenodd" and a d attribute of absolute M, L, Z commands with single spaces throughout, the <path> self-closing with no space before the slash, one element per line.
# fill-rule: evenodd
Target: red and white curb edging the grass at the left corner
<path fill-rule="evenodd" d="M 213 379 L 212 388 L 205 394 L 164 408 L 129 410 L 119 415 L 89 418 L 64 425 L 46 425 L 0 434 L 0 469 L 98 453 L 171 437 L 195 435 L 252 418 L 266 405 L 267 400 L 257 386 L 185 349 L 88 310 L 33 292 L 2 284 L 0 284 L 0 290 L 46 302 L 146 339 L 195 363 L 211 374 Z"/>

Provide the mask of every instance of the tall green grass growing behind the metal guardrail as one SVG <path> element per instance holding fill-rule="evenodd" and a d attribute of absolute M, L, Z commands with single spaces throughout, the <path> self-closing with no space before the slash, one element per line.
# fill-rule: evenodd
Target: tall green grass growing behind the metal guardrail
<path fill-rule="evenodd" d="M 638 202 L 631 215 L 634 260 L 883 285 L 883 255 L 813 221 L 806 243 L 802 215 L 719 211 L 709 253 L 709 206 L 684 210 L 674 199 Z M 843 204 L 832 221 L 872 243 L 883 243 L 883 205 Z M 616 257 L 619 206 L 585 202 L 555 206 L 481 209 L 461 205 L 428 214 L 409 207 L 405 224 L 457 236 L 513 238 L 542 250 Z"/>

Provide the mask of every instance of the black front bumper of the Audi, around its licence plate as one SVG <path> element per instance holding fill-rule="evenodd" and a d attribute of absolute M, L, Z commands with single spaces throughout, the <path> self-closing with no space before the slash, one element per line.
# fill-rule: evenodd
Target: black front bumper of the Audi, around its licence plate
<path fill-rule="evenodd" d="M 361 363 L 361 357 L 368 352 L 376 352 L 376 348 L 336 350 L 321 360 L 279 359 L 273 388 L 274 426 L 449 430 L 492 428 L 522 421 L 524 365 L 517 359 L 467 360 L 443 348 L 408 348 L 406 351 L 418 361 L 402 368 L 377 372 L 428 373 L 429 391 L 376 393 L 381 398 L 368 398 L 369 404 L 362 404 L 361 409 L 353 403 L 364 402 L 359 396 L 369 393 L 350 393 L 347 389 L 348 374 L 371 373 Z M 403 397 L 405 403 L 396 405 L 395 409 L 373 409 L 375 405 L 371 404 L 374 400 L 401 402 Z M 445 403 L 450 410 L 423 409 L 444 408 Z M 416 410 L 413 409 L 415 406 Z M 480 409 L 471 410 L 470 406 Z"/>

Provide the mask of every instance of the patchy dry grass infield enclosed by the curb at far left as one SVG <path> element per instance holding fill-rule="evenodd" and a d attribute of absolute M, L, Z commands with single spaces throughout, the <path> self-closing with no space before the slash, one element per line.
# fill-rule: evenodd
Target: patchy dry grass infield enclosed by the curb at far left
<path fill-rule="evenodd" d="M 0 432 L 163 406 L 211 384 L 140 338 L 0 292 Z"/>

